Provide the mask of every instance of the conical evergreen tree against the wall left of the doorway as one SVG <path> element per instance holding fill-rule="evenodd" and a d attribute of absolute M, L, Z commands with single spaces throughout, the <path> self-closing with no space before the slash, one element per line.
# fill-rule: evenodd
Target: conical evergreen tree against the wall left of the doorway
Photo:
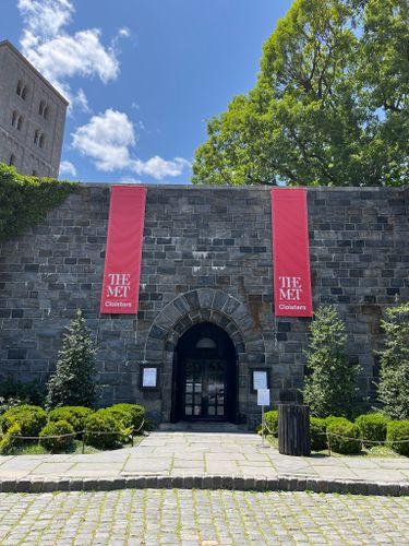
<path fill-rule="evenodd" d="M 64 334 L 56 373 L 47 383 L 47 407 L 94 404 L 95 354 L 91 332 L 79 309 Z"/>

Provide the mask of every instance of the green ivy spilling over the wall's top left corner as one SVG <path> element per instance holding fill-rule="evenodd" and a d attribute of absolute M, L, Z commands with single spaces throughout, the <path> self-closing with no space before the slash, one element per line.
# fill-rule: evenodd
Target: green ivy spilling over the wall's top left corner
<path fill-rule="evenodd" d="M 76 183 L 19 175 L 0 163 L 0 240 L 22 234 L 60 205 Z"/>

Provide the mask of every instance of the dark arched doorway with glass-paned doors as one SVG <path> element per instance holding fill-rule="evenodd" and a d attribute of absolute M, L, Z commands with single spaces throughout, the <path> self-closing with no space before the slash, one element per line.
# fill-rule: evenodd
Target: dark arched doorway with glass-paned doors
<path fill-rule="evenodd" d="M 173 419 L 236 422 L 236 351 L 216 324 L 191 327 L 176 348 Z"/>

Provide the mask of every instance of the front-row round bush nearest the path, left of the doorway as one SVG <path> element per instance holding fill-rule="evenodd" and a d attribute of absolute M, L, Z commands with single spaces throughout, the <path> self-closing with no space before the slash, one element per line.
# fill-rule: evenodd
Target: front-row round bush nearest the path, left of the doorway
<path fill-rule="evenodd" d="M 89 415 L 85 420 L 85 442 L 94 448 L 117 448 L 123 440 L 122 434 L 117 432 L 120 430 L 120 424 L 107 410 L 99 410 Z"/>

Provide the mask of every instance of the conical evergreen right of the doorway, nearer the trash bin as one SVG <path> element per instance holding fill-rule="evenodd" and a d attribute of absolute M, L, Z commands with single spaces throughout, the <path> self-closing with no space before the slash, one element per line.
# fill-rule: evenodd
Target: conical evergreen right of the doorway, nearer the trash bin
<path fill-rule="evenodd" d="M 358 367 L 348 363 L 344 322 L 334 307 L 320 307 L 310 331 L 304 403 L 314 417 L 349 416 L 357 399 Z"/>

